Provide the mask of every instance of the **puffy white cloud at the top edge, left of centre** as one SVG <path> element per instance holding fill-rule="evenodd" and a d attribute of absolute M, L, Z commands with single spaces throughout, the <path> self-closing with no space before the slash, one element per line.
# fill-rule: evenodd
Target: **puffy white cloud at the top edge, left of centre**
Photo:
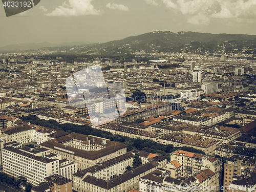
<path fill-rule="evenodd" d="M 69 0 L 58 6 L 48 16 L 80 16 L 80 15 L 98 15 L 100 11 L 94 9 L 92 0 Z"/>

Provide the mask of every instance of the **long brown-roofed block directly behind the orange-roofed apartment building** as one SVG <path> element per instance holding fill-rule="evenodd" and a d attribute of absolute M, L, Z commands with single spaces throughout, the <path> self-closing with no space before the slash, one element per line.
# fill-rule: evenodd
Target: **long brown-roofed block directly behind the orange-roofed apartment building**
<path fill-rule="evenodd" d="M 205 154 L 214 155 L 214 150 L 220 144 L 220 141 L 184 133 L 172 133 L 161 137 L 160 143 L 165 145 L 172 144 L 174 147 L 193 147 L 203 151 Z"/>

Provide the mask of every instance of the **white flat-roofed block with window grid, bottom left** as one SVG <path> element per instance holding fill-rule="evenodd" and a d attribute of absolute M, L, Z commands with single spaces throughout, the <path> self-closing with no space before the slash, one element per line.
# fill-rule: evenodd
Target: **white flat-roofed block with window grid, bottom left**
<path fill-rule="evenodd" d="M 44 156 L 44 157 L 43 157 Z M 50 150 L 29 147 L 6 146 L 2 149 L 4 173 L 14 177 L 25 177 L 33 185 L 44 178 L 59 174 L 59 156 L 52 156 Z"/>

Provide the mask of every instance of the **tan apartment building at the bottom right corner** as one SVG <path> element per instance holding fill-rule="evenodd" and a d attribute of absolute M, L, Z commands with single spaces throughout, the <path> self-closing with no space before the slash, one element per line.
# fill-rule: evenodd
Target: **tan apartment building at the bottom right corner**
<path fill-rule="evenodd" d="M 246 168 L 255 168 L 256 167 L 256 158 L 248 157 L 243 155 L 233 155 L 228 158 L 224 163 L 224 175 L 223 175 L 223 184 L 224 189 L 227 191 L 228 186 L 232 181 L 238 179 L 238 177 L 242 176 L 243 171 Z M 233 183 L 234 184 L 234 183 Z M 246 184 L 243 183 L 243 186 Z M 230 191 L 230 190 L 229 190 Z M 249 190 L 248 190 L 249 191 Z"/>

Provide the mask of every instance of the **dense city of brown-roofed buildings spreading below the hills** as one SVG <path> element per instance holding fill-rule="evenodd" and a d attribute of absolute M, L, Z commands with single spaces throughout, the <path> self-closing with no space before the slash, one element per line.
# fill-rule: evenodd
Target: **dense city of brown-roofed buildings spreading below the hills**
<path fill-rule="evenodd" d="M 0 180 L 13 190 L 255 191 L 253 54 L 0 59 Z"/>

